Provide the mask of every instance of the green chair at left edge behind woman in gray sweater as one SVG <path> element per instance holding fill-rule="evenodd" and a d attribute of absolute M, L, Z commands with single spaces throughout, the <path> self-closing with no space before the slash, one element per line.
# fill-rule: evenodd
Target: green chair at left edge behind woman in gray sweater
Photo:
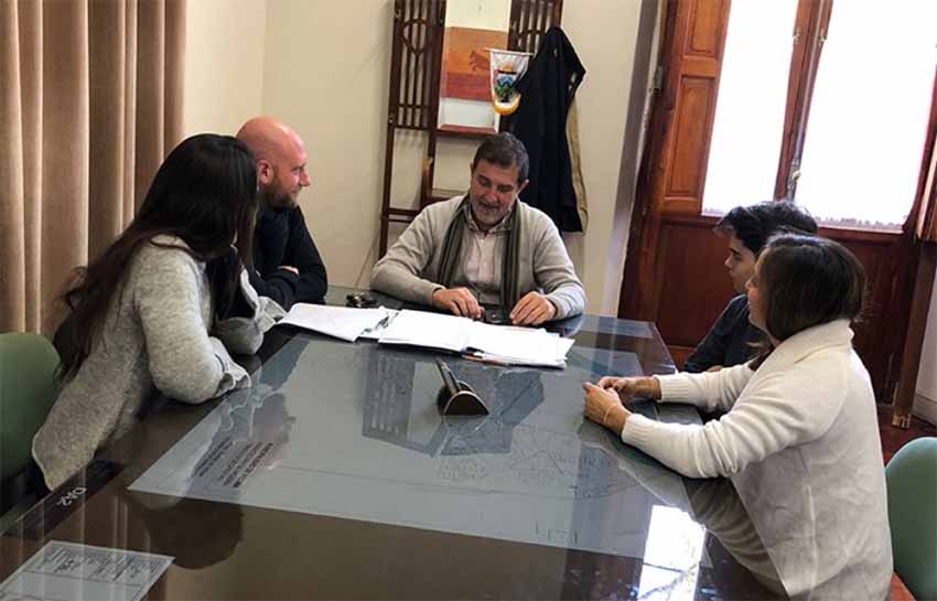
<path fill-rule="evenodd" d="M 0 334 L 0 514 L 31 493 L 32 439 L 55 400 L 57 367 L 58 353 L 43 336 Z"/>

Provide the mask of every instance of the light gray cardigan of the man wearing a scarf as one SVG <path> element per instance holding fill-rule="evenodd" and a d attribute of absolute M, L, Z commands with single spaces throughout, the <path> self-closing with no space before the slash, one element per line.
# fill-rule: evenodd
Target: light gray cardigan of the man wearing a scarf
<path fill-rule="evenodd" d="M 400 235 L 371 271 L 370 287 L 398 299 L 432 304 L 438 283 L 442 245 L 452 216 L 463 196 L 434 203 L 423 208 L 413 223 Z M 557 226 L 542 211 L 517 201 L 521 221 L 518 292 L 521 296 L 537 290 L 557 307 L 556 319 L 578 315 L 585 309 L 585 290 L 575 276 Z M 465 228 L 465 236 L 470 235 Z M 466 244 L 463 240 L 463 248 Z M 465 275 L 456 269 L 455 281 L 464 282 Z M 468 286 L 468 282 L 460 283 Z M 510 309 L 510 308 L 507 308 Z"/>

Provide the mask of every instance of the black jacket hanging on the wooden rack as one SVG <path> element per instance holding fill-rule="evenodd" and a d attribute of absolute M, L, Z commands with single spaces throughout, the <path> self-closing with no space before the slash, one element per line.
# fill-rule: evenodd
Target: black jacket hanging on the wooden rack
<path fill-rule="evenodd" d="M 553 219 L 560 232 L 582 232 L 572 185 L 567 114 L 585 68 L 560 28 L 543 34 L 540 50 L 518 82 L 520 106 L 508 129 L 530 154 L 530 183 L 524 202 Z"/>

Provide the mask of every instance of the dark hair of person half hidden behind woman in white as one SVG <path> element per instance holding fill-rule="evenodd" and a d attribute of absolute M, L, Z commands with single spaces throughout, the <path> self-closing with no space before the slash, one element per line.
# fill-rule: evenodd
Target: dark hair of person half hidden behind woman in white
<path fill-rule="evenodd" d="M 766 201 L 736 206 L 715 224 L 718 232 L 731 232 L 745 248 L 757 255 L 776 232 L 816 234 L 817 222 L 806 208 L 791 201 Z"/>

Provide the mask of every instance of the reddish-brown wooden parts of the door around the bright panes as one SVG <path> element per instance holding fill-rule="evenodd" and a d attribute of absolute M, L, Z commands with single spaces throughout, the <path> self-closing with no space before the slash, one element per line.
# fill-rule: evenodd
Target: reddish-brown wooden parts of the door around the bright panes
<path fill-rule="evenodd" d="M 718 217 L 702 214 L 730 10 L 729 0 L 668 3 L 663 87 L 654 99 L 620 296 L 618 315 L 656 322 L 678 365 L 734 294 L 722 265 L 725 239 L 712 232 Z M 829 13 L 829 2 L 801 0 L 797 26 L 816 32 Z M 796 64 L 810 60 L 816 64 L 819 56 L 795 45 L 776 197 L 791 183 L 815 76 L 815 69 Z M 900 373 L 913 280 L 911 233 L 907 227 L 902 233 L 821 227 L 820 234 L 844 244 L 865 266 L 870 302 L 855 345 L 879 400 L 888 401 Z"/>

